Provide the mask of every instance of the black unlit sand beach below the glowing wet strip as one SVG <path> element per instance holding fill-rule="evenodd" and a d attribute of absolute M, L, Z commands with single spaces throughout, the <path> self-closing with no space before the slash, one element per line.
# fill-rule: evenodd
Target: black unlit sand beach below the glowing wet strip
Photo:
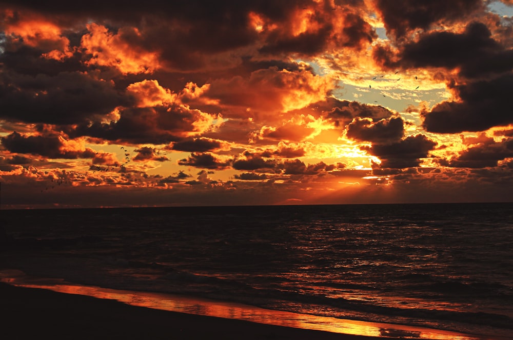
<path fill-rule="evenodd" d="M 2 334 L 28 339 L 337 339 L 376 337 L 169 312 L 0 283 Z"/>

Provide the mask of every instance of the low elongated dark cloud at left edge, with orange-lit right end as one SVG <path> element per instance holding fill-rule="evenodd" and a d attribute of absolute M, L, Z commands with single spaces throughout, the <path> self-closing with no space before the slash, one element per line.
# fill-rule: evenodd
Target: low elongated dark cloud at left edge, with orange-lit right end
<path fill-rule="evenodd" d="M 95 155 L 93 150 L 66 150 L 60 136 L 23 136 L 13 132 L 0 137 L 4 147 L 10 152 L 37 154 L 50 158 L 90 158 Z"/>

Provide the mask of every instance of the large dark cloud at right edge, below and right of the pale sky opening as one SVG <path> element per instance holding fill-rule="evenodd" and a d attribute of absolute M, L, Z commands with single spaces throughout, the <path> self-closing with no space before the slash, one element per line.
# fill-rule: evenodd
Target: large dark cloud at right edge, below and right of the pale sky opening
<path fill-rule="evenodd" d="M 511 88 L 513 73 L 487 81 L 450 85 L 460 101 L 442 102 L 423 110 L 423 127 L 429 132 L 485 131 L 513 123 Z"/>

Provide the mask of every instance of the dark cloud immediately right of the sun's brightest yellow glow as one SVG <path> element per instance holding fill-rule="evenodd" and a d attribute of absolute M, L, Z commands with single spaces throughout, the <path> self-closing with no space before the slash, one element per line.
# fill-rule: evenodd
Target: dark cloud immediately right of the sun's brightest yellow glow
<path fill-rule="evenodd" d="M 437 145 L 428 137 L 422 134 L 408 136 L 399 142 L 388 144 L 373 144 L 370 147 L 361 147 L 369 154 L 381 159 L 381 168 L 411 168 L 418 167 L 420 158 L 428 156 L 429 151 Z"/>

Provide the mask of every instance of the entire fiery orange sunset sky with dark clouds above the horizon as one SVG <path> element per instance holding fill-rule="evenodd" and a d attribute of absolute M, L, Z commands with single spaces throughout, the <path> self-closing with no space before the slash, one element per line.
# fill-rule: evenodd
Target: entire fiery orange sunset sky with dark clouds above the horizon
<path fill-rule="evenodd" d="M 0 0 L 0 208 L 513 202 L 511 0 Z"/>

